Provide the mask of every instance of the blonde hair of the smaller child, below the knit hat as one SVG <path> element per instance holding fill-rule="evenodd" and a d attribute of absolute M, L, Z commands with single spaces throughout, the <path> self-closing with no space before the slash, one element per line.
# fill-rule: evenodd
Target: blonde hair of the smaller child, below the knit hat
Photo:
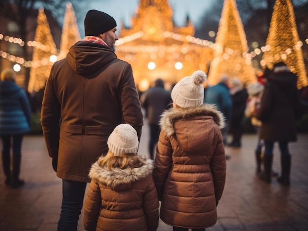
<path fill-rule="evenodd" d="M 98 164 L 101 167 L 106 167 L 108 169 L 112 168 L 138 168 L 142 165 L 145 165 L 145 159 L 138 156 L 137 154 L 121 154 L 115 155 L 112 152 L 108 151 L 107 155 L 104 158 L 98 160 Z"/>

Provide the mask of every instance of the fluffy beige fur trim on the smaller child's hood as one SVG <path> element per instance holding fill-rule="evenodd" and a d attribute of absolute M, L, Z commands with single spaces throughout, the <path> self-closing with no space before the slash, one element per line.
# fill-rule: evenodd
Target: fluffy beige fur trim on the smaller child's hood
<path fill-rule="evenodd" d="M 101 156 L 98 160 L 101 158 L 104 157 Z M 134 181 L 145 179 L 152 174 L 154 161 L 152 159 L 147 159 L 144 160 L 144 162 L 144 165 L 137 168 L 107 169 L 106 167 L 99 166 L 98 161 L 96 161 L 92 164 L 89 177 L 111 188 L 125 188 L 130 186 Z"/>

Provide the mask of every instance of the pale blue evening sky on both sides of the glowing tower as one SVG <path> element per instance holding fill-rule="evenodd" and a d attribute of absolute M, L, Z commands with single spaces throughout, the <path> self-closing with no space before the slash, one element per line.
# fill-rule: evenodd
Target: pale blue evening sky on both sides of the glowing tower
<path fill-rule="evenodd" d="M 169 0 L 169 4 L 173 9 L 173 16 L 177 26 L 183 26 L 187 13 L 191 21 L 197 24 L 205 9 L 212 1 L 213 0 Z M 91 9 L 103 11 L 114 17 L 118 26 L 122 20 L 125 26 L 130 26 L 130 19 L 134 15 L 138 5 L 139 0 L 92 0 L 87 11 Z M 83 29 L 83 25 L 80 26 L 81 36 L 84 35 Z"/>

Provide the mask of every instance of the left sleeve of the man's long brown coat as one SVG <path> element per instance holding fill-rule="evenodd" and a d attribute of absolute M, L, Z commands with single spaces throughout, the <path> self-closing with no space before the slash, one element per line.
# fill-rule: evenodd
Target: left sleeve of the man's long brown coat
<path fill-rule="evenodd" d="M 61 104 L 57 98 L 53 69 L 47 80 L 41 110 L 41 125 L 49 156 L 58 158 Z"/>

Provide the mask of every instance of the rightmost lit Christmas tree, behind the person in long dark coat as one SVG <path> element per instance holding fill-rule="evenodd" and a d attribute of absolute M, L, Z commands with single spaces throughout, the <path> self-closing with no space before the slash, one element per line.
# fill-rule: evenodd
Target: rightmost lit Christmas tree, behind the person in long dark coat
<path fill-rule="evenodd" d="M 282 61 L 297 74 L 297 87 L 300 89 L 307 86 L 302 45 L 303 42 L 300 41 L 297 33 L 291 1 L 276 0 L 266 40 L 267 51 L 263 54 L 261 65 L 272 69 L 275 63 Z"/>

